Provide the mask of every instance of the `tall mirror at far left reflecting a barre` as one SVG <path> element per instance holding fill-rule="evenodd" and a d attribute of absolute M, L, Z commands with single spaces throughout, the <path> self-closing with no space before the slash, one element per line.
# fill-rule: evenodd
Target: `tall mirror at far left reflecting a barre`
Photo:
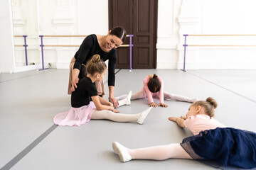
<path fill-rule="evenodd" d="M 41 62 L 37 1 L 11 0 L 11 10 L 16 67 L 20 69 L 24 67 L 26 70 L 28 67 L 36 69 Z"/>

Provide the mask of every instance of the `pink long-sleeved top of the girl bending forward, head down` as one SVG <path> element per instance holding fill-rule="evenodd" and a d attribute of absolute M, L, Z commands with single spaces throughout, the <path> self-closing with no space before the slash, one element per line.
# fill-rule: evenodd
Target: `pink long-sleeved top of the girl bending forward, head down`
<path fill-rule="evenodd" d="M 147 85 L 149 83 L 149 77 L 148 76 L 146 76 L 144 81 L 143 81 L 144 91 L 146 91 L 146 96 L 149 99 L 149 103 L 154 102 L 153 97 L 157 96 L 157 94 L 159 95 L 159 102 L 164 103 L 164 80 L 161 79 L 161 77 L 157 77 L 157 78 L 161 82 L 161 88 L 160 88 L 159 92 L 156 92 L 156 93 L 151 93 L 151 91 L 149 91 L 149 86 Z"/>

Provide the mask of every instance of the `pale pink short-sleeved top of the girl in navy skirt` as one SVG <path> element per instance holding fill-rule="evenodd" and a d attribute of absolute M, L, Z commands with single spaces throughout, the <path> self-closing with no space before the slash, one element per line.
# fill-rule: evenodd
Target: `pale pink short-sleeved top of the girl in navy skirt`
<path fill-rule="evenodd" d="M 225 128 L 226 126 L 219 123 L 213 117 L 208 115 L 192 115 L 190 118 L 187 118 L 184 121 L 184 125 L 186 128 L 193 132 L 193 135 L 198 135 L 202 130 L 211 130 L 215 128 Z"/>

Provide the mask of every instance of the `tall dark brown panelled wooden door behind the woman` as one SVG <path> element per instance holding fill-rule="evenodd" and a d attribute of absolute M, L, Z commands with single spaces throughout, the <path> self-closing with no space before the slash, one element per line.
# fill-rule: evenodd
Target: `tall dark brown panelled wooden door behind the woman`
<path fill-rule="evenodd" d="M 109 0 L 109 28 L 122 26 L 132 38 L 132 68 L 156 68 L 157 0 Z M 129 38 L 125 41 L 129 44 Z M 117 49 L 117 67 L 129 68 L 129 48 Z"/>

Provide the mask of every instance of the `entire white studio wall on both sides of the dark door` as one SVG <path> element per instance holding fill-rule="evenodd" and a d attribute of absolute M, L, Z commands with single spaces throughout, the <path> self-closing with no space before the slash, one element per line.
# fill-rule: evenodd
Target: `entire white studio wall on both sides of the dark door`
<path fill-rule="evenodd" d="M 13 11 L 16 13 L 14 33 L 30 35 L 28 62 L 41 63 L 37 33 L 105 35 L 108 31 L 107 0 L 12 1 Z M 255 6 L 254 0 L 159 0 L 157 68 L 183 68 L 183 34 L 256 34 Z M 29 15 L 32 12 L 36 16 Z M 45 44 L 55 45 L 80 45 L 82 40 L 83 38 L 43 39 Z M 188 37 L 187 42 L 205 45 L 256 45 L 255 37 Z M 76 50 L 78 47 L 45 47 L 45 66 L 48 67 L 50 63 L 52 67 L 68 68 Z M 23 48 L 16 48 L 17 62 L 25 62 L 22 55 Z M 255 47 L 187 47 L 186 69 L 256 69 L 255 55 Z"/>

